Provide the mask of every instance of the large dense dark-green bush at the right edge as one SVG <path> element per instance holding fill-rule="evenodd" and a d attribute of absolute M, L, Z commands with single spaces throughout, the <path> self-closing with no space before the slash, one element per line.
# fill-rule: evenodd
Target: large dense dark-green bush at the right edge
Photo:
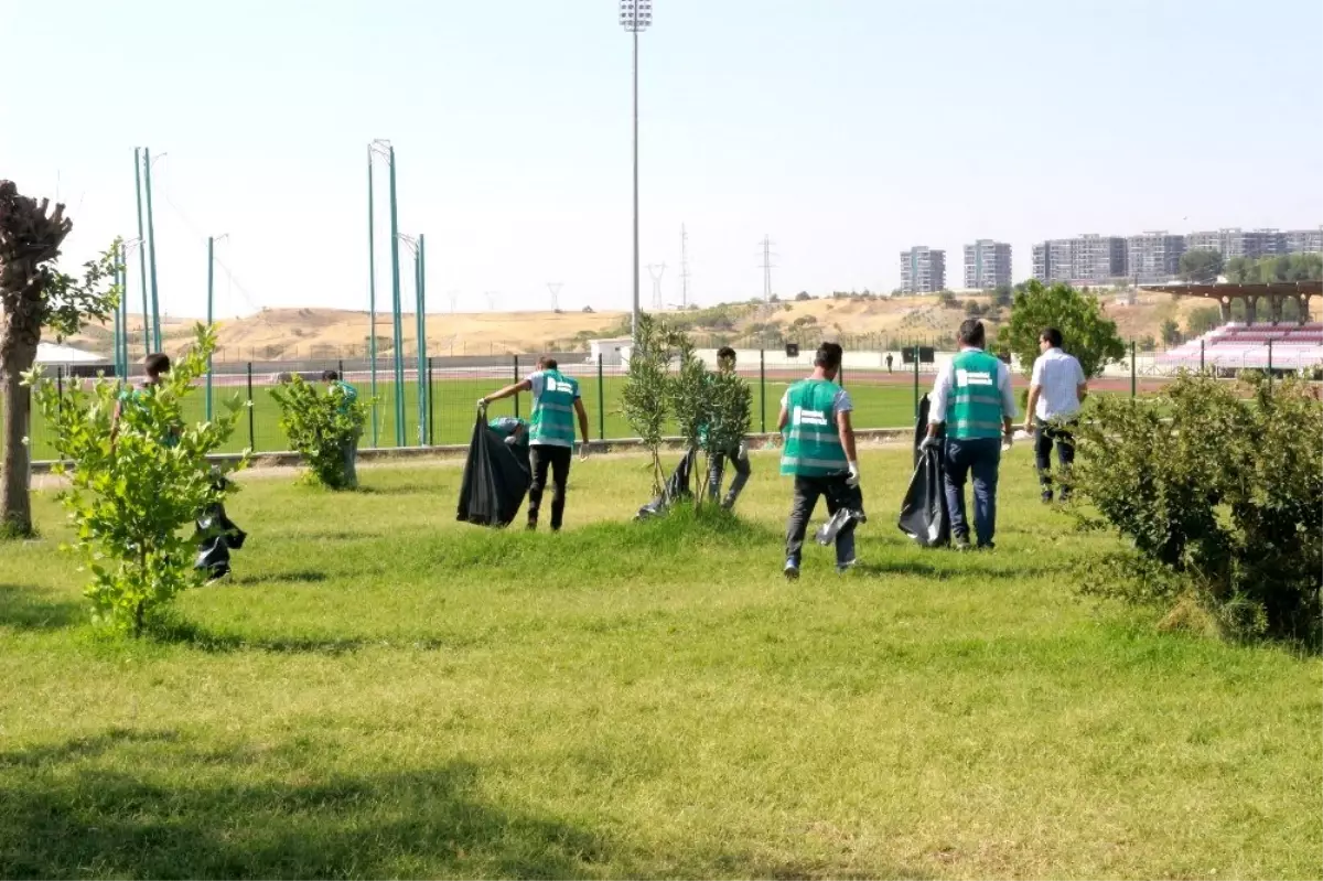
<path fill-rule="evenodd" d="M 1197 610 L 1236 638 L 1323 632 L 1323 406 L 1302 381 L 1253 396 L 1183 376 L 1155 402 L 1101 397 L 1073 480 L 1132 548 L 1086 590 Z M 1163 418 L 1163 413 L 1170 419 Z"/>

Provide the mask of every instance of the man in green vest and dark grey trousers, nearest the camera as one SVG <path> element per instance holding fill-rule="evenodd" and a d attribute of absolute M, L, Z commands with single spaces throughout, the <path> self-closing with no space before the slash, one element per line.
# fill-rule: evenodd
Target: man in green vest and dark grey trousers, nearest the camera
<path fill-rule="evenodd" d="M 836 384 L 841 348 L 823 343 L 814 356 L 814 373 L 790 386 L 781 399 L 777 429 L 785 435 L 781 474 L 795 479 L 795 500 L 786 525 L 786 578 L 799 578 L 800 554 L 808 520 L 820 496 L 827 511 L 863 508 L 859 491 L 859 463 L 855 456 L 855 429 L 849 393 Z M 855 524 L 836 534 L 836 571 L 855 565 Z"/>

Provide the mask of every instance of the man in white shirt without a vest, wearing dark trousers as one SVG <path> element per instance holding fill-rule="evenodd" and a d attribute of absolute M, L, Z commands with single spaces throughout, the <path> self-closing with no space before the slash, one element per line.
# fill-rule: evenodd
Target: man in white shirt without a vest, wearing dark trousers
<path fill-rule="evenodd" d="M 1043 503 L 1052 503 L 1052 447 L 1057 448 L 1057 462 L 1061 476 L 1069 478 L 1074 462 L 1074 423 L 1080 418 L 1080 406 L 1089 393 L 1089 382 L 1084 368 L 1074 356 L 1061 351 L 1061 331 L 1044 328 L 1039 335 L 1039 351 L 1043 355 L 1033 362 L 1033 378 L 1029 380 L 1029 406 L 1025 407 L 1024 430 L 1037 433 L 1033 444 L 1039 466 L 1039 483 L 1043 484 Z M 1069 484 L 1062 484 L 1058 496 L 1061 501 L 1070 497 Z"/>

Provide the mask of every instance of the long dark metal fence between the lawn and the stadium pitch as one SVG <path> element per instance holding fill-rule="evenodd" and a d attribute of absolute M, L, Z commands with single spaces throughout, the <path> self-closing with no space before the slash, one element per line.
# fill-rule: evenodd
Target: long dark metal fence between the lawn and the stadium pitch
<path fill-rule="evenodd" d="M 710 362 L 714 352 L 700 351 L 700 356 Z M 855 426 L 898 429 L 913 425 L 919 398 L 931 390 L 937 369 L 953 356 L 953 352 L 927 347 L 893 352 L 847 351 L 840 382 L 853 399 Z M 562 352 L 554 357 L 560 362 L 560 370 L 579 382 L 593 439 L 619 441 L 635 437 L 622 413 L 627 372 L 623 365 L 587 360 L 582 352 Z M 359 390 L 360 399 L 369 406 L 364 446 L 463 444 L 468 442 L 474 429 L 478 398 L 519 382 L 537 369 L 537 358 L 538 356 L 531 355 L 430 357 L 423 362 L 422 370 L 417 360 L 406 360 L 401 365 L 398 382 L 394 361 L 389 358 L 378 358 L 374 372 L 366 358 L 213 362 L 212 393 L 204 394 L 200 389 L 191 396 L 185 401 L 185 417 L 201 421 L 212 413 L 222 413 L 226 406 L 239 406 L 243 411 L 238 426 L 222 451 L 238 452 L 245 447 L 254 452 L 283 451 L 288 448 L 288 442 L 279 427 L 280 411 L 271 390 L 294 373 L 310 381 L 320 381 L 323 370 L 336 370 Z M 785 349 L 738 352 L 738 373 L 753 386 L 754 433 L 775 431 L 785 390 L 811 372 L 811 351 L 798 356 L 787 356 Z M 1131 343 L 1127 357 L 1121 364 L 1110 365 L 1090 385 L 1105 394 L 1142 396 L 1159 390 L 1183 369 L 1208 369 L 1230 377 L 1241 369 L 1267 368 L 1274 373 L 1285 373 L 1297 370 L 1298 366 L 1274 365 L 1271 360 L 1267 364 L 1254 360 L 1221 364 L 1208 352 L 1203 353 L 1203 360 L 1199 352 L 1189 357 L 1164 357 L 1146 355 Z M 1012 373 L 1023 399 L 1028 381 L 1019 362 L 1012 362 Z M 78 381 L 65 369 L 57 369 L 54 378 L 61 389 L 67 382 Z M 208 399 L 212 413 L 208 411 Z M 529 396 L 517 394 L 492 403 L 488 418 L 528 417 L 531 407 Z M 50 430 L 40 417 L 33 415 L 33 459 L 50 459 L 54 455 Z"/>

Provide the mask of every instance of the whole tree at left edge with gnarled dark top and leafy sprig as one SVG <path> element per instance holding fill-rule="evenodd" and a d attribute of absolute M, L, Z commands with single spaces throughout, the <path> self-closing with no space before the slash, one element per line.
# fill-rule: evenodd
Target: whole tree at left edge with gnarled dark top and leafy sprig
<path fill-rule="evenodd" d="M 119 302 L 107 286 L 115 275 L 119 242 L 101 259 L 83 265 L 82 279 L 56 267 L 73 221 L 65 206 L 19 194 L 0 180 L 0 385 L 4 396 L 4 452 L 0 474 L 0 537 L 30 536 L 28 499 L 28 414 L 30 390 L 22 376 L 37 360 L 42 328 L 57 339 L 77 333 L 85 321 L 106 319 Z"/>

